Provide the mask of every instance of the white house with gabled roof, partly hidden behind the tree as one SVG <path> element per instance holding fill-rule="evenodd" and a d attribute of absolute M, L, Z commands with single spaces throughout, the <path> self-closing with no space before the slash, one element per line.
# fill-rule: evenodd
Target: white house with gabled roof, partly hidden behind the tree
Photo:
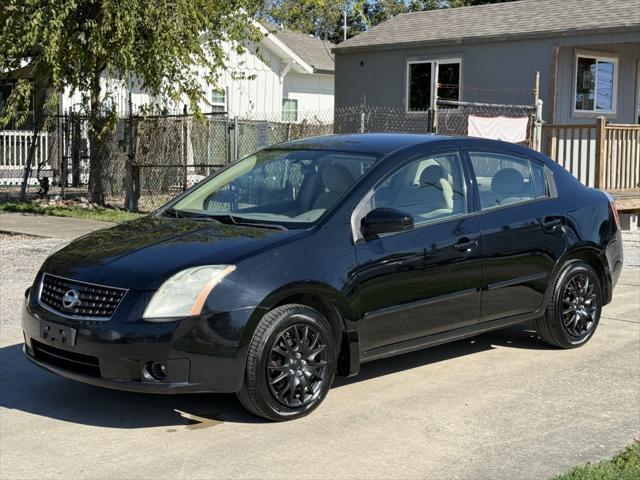
<path fill-rule="evenodd" d="M 249 45 L 242 54 L 237 54 L 231 45 L 226 47 L 227 69 L 221 72 L 217 85 L 204 85 L 210 104 L 203 102 L 202 111 L 293 122 L 319 116 L 330 122 L 333 118 L 333 45 L 275 25 L 256 22 L 256 26 L 264 34 L 259 46 Z M 136 87 L 135 82 L 108 74 L 103 82 L 112 92 L 122 116 L 129 114 L 130 102 L 134 113 L 143 106 L 162 103 Z M 63 111 L 68 111 L 81 102 L 81 93 L 68 91 L 60 103 Z M 187 100 L 172 105 L 170 111 L 182 113 L 185 107 L 190 110 Z"/>

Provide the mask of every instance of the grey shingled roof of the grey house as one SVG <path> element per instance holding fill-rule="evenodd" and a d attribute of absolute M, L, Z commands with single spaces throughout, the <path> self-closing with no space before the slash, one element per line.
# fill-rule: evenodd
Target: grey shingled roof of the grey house
<path fill-rule="evenodd" d="M 640 28 L 640 0 L 519 0 L 405 13 L 334 50 Z"/>

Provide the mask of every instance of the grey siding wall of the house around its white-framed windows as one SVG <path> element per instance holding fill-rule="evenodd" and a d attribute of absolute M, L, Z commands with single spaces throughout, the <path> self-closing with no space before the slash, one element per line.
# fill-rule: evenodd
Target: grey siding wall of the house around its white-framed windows
<path fill-rule="evenodd" d="M 564 53 L 571 48 L 594 45 L 629 44 L 624 58 L 631 66 L 620 69 L 618 121 L 631 123 L 635 102 L 635 63 L 640 48 L 640 29 L 612 34 L 572 35 L 473 44 L 450 44 L 394 48 L 371 47 L 368 50 L 335 51 L 336 107 L 366 103 L 369 105 L 406 108 L 406 62 L 410 60 L 461 58 L 461 100 L 468 102 L 533 104 L 535 72 L 540 72 L 540 98 L 545 102 L 543 117 L 549 121 L 553 105 L 553 69 L 555 48 Z M 626 61 L 626 60 L 625 60 Z M 362 66 L 361 66 L 362 65 Z M 622 58 L 621 58 L 622 67 Z M 622 76 L 625 76 L 622 79 Z M 571 109 L 573 58 L 562 57 L 558 64 L 556 121 L 565 109 Z M 626 105 L 630 105 L 629 108 Z"/>

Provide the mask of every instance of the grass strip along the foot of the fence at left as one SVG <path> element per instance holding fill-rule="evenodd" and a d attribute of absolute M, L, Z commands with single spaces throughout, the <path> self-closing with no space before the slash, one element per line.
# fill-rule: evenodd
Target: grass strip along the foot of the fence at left
<path fill-rule="evenodd" d="M 0 212 L 35 213 L 53 217 L 73 217 L 84 220 L 122 223 L 140 218 L 142 214 L 127 212 L 117 208 L 86 208 L 75 205 L 39 205 L 31 202 L 0 203 Z"/>

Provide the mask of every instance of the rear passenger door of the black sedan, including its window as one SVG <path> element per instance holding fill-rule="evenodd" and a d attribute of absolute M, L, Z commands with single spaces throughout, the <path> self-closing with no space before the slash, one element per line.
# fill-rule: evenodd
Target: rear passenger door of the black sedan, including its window
<path fill-rule="evenodd" d="M 482 245 L 481 322 L 542 308 L 565 250 L 551 174 L 536 159 L 499 150 L 468 150 L 477 185 Z"/>

